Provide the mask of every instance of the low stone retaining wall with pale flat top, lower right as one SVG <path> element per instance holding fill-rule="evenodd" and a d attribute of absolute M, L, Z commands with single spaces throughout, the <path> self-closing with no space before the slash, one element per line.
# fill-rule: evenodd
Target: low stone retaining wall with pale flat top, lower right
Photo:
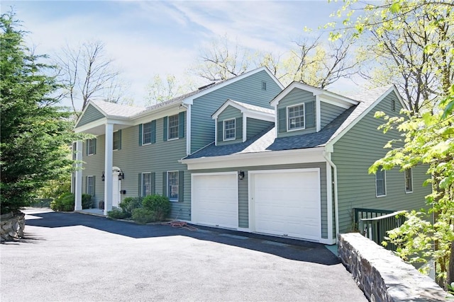
<path fill-rule="evenodd" d="M 360 233 L 339 234 L 338 255 L 370 301 L 448 299 L 430 277 Z"/>

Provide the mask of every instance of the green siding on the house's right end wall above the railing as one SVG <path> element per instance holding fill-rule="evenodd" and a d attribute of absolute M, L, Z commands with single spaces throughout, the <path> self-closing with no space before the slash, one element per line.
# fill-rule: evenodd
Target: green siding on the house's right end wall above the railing
<path fill-rule="evenodd" d="M 392 100 L 397 100 L 394 93 L 384 98 L 372 108 L 365 117 L 353 126 L 334 144 L 333 163 L 338 171 L 338 209 L 339 231 L 350 231 L 353 222 L 353 208 L 366 209 L 420 209 L 424 206 L 424 196 L 431 192 L 430 187 L 422 187 L 426 180 L 422 166 L 413 169 L 414 192 L 406 194 L 404 173 L 397 169 L 386 171 L 386 196 L 376 197 L 375 175 L 367 173 L 368 168 L 377 159 L 382 158 L 387 149 L 383 146 L 392 139 L 399 138 L 399 133 L 390 131 L 386 135 L 377 127 L 384 121 L 374 117 L 375 112 L 390 111 Z M 396 102 L 396 112 L 400 103 Z M 395 112 L 394 112 L 395 113 Z"/>

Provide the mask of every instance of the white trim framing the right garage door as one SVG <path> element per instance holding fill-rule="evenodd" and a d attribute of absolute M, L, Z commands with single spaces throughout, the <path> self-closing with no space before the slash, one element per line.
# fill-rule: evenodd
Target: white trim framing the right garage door
<path fill-rule="evenodd" d="M 318 233 L 316 242 L 328 242 L 332 244 L 330 240 L 321 238 L 321 181 L 320 181 L 320 168 L 297 168 L 297 169 L 279 169 L 279 170 L 249 170 L 248 171 L 248 207 L 249 207 L 249 229 L 251 232 L 255 232 L 255 194 L 253 188 L 255 187 L 255 178 L 256 174 L 277 174 L 277 173 L 304 173 L 304 172 L 316 172 L 317 181 L 319 184 L 319 190 L 317 190 L 318 196 Z M 299 238 L 304 240 L 314 240 L 311 238 Z"/>

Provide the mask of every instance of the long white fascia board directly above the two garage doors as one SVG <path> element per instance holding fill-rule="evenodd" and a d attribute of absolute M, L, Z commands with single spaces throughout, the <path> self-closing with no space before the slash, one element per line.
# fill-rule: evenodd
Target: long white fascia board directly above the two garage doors
<path fill-rule="evenodd" d="M 286 165 L 292 163 L 323 163 L 323 147 L 259 153 L 240 153 L 228 156 L 182 159 L 188 170 L 252 167 L 259 165 Z"/>

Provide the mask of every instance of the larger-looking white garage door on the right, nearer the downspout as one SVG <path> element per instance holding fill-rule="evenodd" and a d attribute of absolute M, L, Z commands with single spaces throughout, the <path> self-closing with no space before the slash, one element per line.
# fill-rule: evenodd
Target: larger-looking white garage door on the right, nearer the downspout
<path fill-rule="evenodd" d="M 318 169 L 253 173 L 255 231 L 320 240 Z"/>

